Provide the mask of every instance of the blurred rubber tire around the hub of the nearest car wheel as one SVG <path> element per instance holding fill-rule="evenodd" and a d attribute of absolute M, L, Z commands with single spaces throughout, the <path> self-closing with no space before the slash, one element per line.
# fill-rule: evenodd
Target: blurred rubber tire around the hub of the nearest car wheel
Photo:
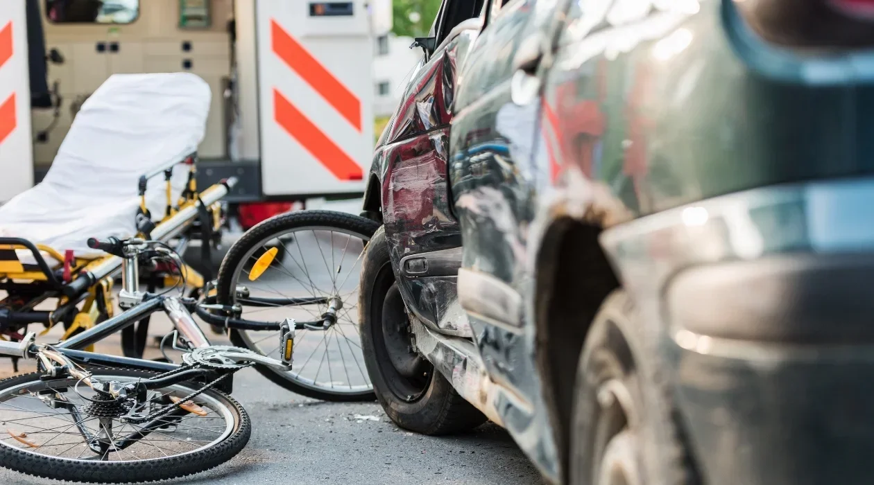
<path fill-rule="evenodd" d="M 588 485 L 600 452 L 594 449 L 607 414 L 600 412 L 598 386 L 617 379 L 628 389 L 635 413 L 632 430 L 643 483 L 699 483 L 684 439 L 672 392 L 658 353 L 657 331 L 647 329 L 623 290 L 607 297 L 586 335 L 577 368 L 572 413 L 570 479 Z"/>

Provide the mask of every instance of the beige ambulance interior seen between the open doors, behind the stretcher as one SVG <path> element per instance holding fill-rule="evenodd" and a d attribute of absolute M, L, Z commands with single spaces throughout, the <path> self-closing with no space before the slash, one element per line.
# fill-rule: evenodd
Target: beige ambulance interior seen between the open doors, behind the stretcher
<path fill-rule="evenodd" d="M 233 3 L 233 0 L 34 2 L 39 7 L 45 33 L 48 58 L 45 79 L 51 92 L 48 97 L 51 102 L 37 92 L 32 97 L 37 180 L 51 166 L 82 103 L 115 73 L 193 72 L 203 78 L 212 89 L 212 106 L 199 155 L 206 161 L 229 159 L 228 133 L 237 111 L 231 85 Z M 38 75 L 33 78 L 38 82 Z"/>

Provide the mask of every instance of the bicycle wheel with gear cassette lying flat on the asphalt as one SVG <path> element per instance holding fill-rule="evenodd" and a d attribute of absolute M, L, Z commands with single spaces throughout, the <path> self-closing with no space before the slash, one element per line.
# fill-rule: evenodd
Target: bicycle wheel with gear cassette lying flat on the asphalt
<path fill-rule="evenodd" d="M 132 382 L 154 374 L 94 369 L 95 378 Z M 121 420 L 130 402 L 89 401 L 96 394 L 77 379 L 40 379 L 38 372 L 0 381 L 0 466 L 71 482 L 154 482 L 191 475 L 230 460 L 252 427 L 237 401 L 214 389 L 193 398 L 192 410 L 160 418 L 161 427 Z M 149 391 L 135 413 L 170 406 L 198 389 L 177 384 Z M 96 443 L 96 444 L 95 444 Z"/>

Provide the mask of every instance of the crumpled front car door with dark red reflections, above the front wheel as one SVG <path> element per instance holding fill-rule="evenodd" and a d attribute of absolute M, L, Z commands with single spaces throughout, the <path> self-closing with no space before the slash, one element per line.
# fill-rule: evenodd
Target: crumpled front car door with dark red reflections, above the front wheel
<path fill-rule="evenodd" d="M 471 332 L 456 297 L 461 231 L 449 210 L 448 134 L 456 64 L 480 30 L 481 10 L 482 0 L 444 1 L 431 37 L 420 40 L 430 44 L 427 57 L 413 72 L 372 165 L 407 307 L 423 323 L 461 337 Z"/>

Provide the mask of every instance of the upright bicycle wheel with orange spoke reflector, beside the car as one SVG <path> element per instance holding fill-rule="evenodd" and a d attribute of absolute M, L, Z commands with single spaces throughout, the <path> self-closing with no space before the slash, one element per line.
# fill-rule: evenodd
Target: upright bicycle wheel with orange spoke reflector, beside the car
<path fill-rule="evenodd" d="M 240 318 L 317 322 L 330 300 L 341 302 L 336 323 L 326 330 L 297 331 L 292 371 L 255 366 L 267 379 L 319 400 L 376 399 L 361 354 L 357 299 L 361 255 L 378 227 L 357 215 L 303 210 L 260 222 L 228 250 L 218 270 L 218 302 L 241 305 Z M 265 258 L 274 248 L 274 256 Z M 256 274 L 253 266 L 259 261 L 265 266 Z M 283 304 L 293 298 L 316 303 Z M 279 359 L 279 331 L 232 330 L 231 341 Z"/>

